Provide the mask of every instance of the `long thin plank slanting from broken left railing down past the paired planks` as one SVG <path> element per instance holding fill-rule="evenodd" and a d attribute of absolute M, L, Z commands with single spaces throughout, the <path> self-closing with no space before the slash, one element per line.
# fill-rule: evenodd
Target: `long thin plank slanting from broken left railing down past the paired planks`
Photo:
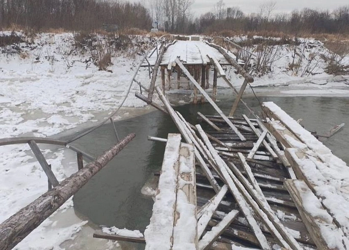
<path fill-rule="evenodd" d="M 166 107 L 169 115 L 171 116 L 172 120 L 176 124 L 178 130 L 181 132 L 182 136 L 184 137 L 184 139 L 187 141 L 187 143 L 193 143 L 194 141 L 192 141 L 190 139 L 188 133 L 186 132 L 186 128 L 185 128 L 184 124 L 181 122 L 180 118 L 178 117 L 176 112 L 173 110 L 170 103 L 167 101 L 165 95 L 161 92 L 160 87 L 157 86 L 155 89 L 156 89 L 162 103 Z M 218 183 L 216 182 L 215 177 L 213 177 L 210 169 L 207 167 L 204 159 L 201 157 L 201 155 L 200 155 L 199 151 L 196 149 L 196 147 L 194 148 L 194 150 L 195 150 L 196 160 L 199 162 L 201 169 L 203 170 L 204 174 L 207 176 L 207 179 L 209 180 L 209 182 L 213 186 L 215 192 L 218 193 L 220 190 L 220 187 L 219 187 Z"/>

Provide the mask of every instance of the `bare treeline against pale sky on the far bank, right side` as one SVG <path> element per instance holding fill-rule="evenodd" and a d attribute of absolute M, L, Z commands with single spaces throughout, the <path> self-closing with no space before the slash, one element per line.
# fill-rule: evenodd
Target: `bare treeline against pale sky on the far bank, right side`
<path fill-rule="evenodd" d="M 222 1 L 212 12 L 201 15 L 193 24 L 198 33 L 222 30 L 300 33 L 349 33 L 349 5 L 334 11 L 305 8 L 290 14 L 274 14 L 275 3 L 261 6 L 257 14 L 244 14 L 239 8 L 225 7 Z M 196 24 L 196 25 L 195 25 Z"/>

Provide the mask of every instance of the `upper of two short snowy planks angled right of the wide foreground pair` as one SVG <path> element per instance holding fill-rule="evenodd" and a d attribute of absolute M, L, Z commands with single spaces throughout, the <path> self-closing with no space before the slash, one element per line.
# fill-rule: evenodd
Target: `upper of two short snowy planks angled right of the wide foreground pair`
<path fill-rule="evenodd" d="M 228 191 L 228 186 L 224 185 L 222 189 L 216 194 L 211 200 L 209 200 L 209 205 L 203 211 L 200 220 L 197 222 L 198 237 L 200 238 L 203 234 L 206 226 L 210 222 L 213 214 L 217 210 L 219 203 L 223 200 L 225 194 Z"/>

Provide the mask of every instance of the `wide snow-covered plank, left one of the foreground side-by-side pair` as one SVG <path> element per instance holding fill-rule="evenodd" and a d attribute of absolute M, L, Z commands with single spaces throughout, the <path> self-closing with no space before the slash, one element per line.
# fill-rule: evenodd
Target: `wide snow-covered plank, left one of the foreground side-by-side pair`
<path fill-rule="evenodd" d="M 144 231 L 145 250 L 170 250 L 173 243 L 181 135 L 169 134 L 150 224 Z"/>

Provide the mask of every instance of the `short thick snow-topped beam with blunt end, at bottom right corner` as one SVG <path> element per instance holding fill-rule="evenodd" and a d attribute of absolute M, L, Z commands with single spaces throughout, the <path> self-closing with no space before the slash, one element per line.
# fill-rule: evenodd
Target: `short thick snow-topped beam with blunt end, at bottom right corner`
<path fill-rule="evenodd" d="M 342 229 L 335 225 L 333 218 L 304 181 L 286 180 L 285 186 L 295 201 L 302 221 L 318 249 L 346 250 L 349 248 L 349 239 Z"/>

